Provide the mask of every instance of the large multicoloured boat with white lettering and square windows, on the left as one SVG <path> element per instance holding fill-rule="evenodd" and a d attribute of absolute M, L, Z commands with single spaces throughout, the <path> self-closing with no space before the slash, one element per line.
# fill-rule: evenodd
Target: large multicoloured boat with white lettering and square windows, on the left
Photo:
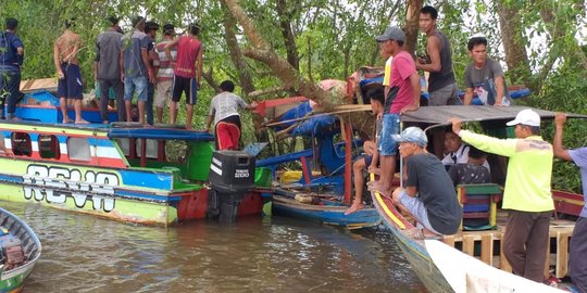
<path fill-rule="evenodd" d="M 18 105 L 20 120 L 0 122 L 14 153 L 0 155 L 0 200 L 147 225 L 207 217 L 212 135 L 170 125 L 60 124 L 50 102 Z M 84 111 L 84 118 L 99 122 L 92 112 Z M 238 213 L 261 208 L 261 194 L 253 191 Z"/>

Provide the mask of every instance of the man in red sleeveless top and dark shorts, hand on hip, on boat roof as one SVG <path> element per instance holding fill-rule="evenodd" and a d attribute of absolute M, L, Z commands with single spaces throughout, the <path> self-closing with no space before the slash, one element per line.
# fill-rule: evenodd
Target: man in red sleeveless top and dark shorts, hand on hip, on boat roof
<path fill-rule="evenodd" d="M 187 100 L 186 128 L 191 129 L 191 118 L 193 116 L 193 105 L 198 101 L 198 88 L 202 77 L 202 42 L 198 39 L 200 26 L 190 24 L 188 35 L 182 36 L 165 46 L 167 60 L 172 60 L 171 49 L 177 46 L 177 61 L 172 61 L 175 65 L 173 79 L 173 94 L 170 103 L 170 124 L 175 124 L 177 102 L 185 92 Z"/>

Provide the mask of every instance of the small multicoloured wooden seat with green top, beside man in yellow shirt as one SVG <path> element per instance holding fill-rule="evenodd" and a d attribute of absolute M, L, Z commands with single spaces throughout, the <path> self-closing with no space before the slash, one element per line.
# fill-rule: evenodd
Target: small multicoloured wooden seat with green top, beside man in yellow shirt
<path fill-rule="evenodd" d="M 496 229 L 501 194 L 502 188 L 496 183 L 458 186 L 457 196 L 463 206 L 461 230 Z"/>

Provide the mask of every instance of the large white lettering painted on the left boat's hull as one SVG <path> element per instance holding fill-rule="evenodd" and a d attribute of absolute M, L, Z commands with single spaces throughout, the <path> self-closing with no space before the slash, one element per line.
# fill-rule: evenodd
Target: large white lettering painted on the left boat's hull
<path fill-rule="evenodd" d="M 24 196 L 37 202 L 64 204 L 67 196 L 73 198 L 75 206 L 83 208 L 89 200 L 95 211 L 112 212 L 115 199 L 111 196 L 91 195 L 99 193 L 114 195 L 114 187 L 120 184 L 118 177 L 112 173 L 86 171 L 84 180 L 82 171 L 43 165 L 28 165 L 23 176 Z"/>

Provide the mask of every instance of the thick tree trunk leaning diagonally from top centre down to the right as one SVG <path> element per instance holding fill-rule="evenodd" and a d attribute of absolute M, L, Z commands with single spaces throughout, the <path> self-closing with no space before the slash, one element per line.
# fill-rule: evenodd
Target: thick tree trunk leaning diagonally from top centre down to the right
<path fill-rule="evenodd" d="M 242 26 L 245 35 L 253 46 L 253 48 L 247 49 L 243 52 L 246 56 L 266 64 L 286 87 L 294 88 L 308 99 L 314 100 L 326 111 L 333 109 L 333 99 L 330 99 L 329 94 L 312 81 L 301 77 L 299 72 L 288 61 L 284 60 L 273 51 L 263 37 L 261 37 L 251 20 L 242 11 L 242 8 L 238 4 L 237 0 L 222 1 L 226 4 L 230 14 Z"/>

